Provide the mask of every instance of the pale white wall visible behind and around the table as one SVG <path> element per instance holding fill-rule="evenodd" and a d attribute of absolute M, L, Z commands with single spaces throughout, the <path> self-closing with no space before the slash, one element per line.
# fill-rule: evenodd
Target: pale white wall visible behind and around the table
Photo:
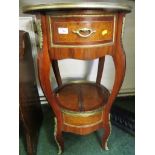
<path fill-rule="evenodd" d="M 30 1 L 26 1 L 26 2 L 22 1 L 22 3 L 20 2 L 20 5 L 23 6 L 23 4 L 25 3 L 30 3 Z M 128 4 L 130 4 L 133 7 L 133 10 L 130 14 L 126 15 L 126 20 L 125 20 L 123 45 L 126 53 L 127 68 L 126 68 L 125 79 L 124 79 L 122 88 L 120 90 L 120 93 L 131 94 L 131 93 L 134 93 L 134 89 L 135 89 L 135 29 L 134 29 L 135 11 L 134 11 L 134 2 L 129 1 Z M 20 14 L 21 14 L 21 9 L 20 9 Z M 21 15 L 23 16 L 23 14 Z M 32 42 L 34 43 L 34 35 L 32 32 L 33 31 L 32 20 L 30 17 L 25 18 L 25 21 L 24 21 L 24 17 L 20 18 L 20 29 L 24 29 L 28 32 L 31 32 L 32 37 L 31 36 L 30 37 L 32 39 Z M 35 45 L 33 44 L 33 46 L 34 46 L 33 53 L 36 55 Z M 88 62 L 84 62 L 81 60 L 71 60 L 71 59 L 61 60 L 59 62 L 59 67 L 60 67 L 61 75 L 65 79 L 69 79 L 70 77 L 73 77 L 76 79 L 84 77 L 84 79 L 94 81 L 96 78 L 96 70 L 97 70 L 97 64 L 98 64 L 97 62 L 98 60 L 88 61 Z M 92 69 L 91 72 L 90 72 L 90 69 Z M 114 65 L 111 57 L 106 56 L 105 69 L 104 69 L 101 83 L 111 90 L 113 81 L 114 81 Z M 41 91 L 40 91 L 40 94 L 42 94 Z"/>

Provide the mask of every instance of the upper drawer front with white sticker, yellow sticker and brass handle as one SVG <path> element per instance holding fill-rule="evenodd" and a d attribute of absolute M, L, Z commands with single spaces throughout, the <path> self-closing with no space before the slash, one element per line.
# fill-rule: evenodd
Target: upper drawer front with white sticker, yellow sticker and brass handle
<path fill-rule="evenodd" d="M 50 17 L 51 45 L 93 45 L 114 41 L 114 16 Z"/>

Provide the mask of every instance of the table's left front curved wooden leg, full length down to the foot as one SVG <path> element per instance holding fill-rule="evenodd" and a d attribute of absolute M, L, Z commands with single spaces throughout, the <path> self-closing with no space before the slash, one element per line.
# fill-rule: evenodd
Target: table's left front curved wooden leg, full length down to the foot
<path fill-rule="evenodd" d="M 39 17 L 40 18 L 40 17 Z M 63 151 L 63 139 L 62 139 L 62 113 L 59 105 L 57 104 L 56 97 L 53 93 L 52 86 L 51 86 L 51 81 L 50 81 L 50 67 L 51 67 L 51 61 L 49 58 L 49 53 L 48 53 L 48 40 L 46 34 L 47 32 L 47 20 L 46 16 L 41 15 L 41 25 L 42 25 L 42 32 L 43 32 L 43 47 L 38 53 L 38 75 L 39 75 L 39 81 L 41 84 L 41 88 L 43 90 L 43 93 L 52 107 L 52 110 L 56 116 L 55 119 L 55 131 L 54 131 L 54 137 L 57 142 L 57 145 L 59 147 L 59 152 L 58 154 L 61 154 Z M 55 66 L 57 68 L 57 62 L 55 63 Z M 56 69 L 57 75 L 59 76 L 58 73 L 58 68 Z M 59 77 L 58 77 L 59 78 Z M 57 79 L 61 85 L 61 79 Z"/>

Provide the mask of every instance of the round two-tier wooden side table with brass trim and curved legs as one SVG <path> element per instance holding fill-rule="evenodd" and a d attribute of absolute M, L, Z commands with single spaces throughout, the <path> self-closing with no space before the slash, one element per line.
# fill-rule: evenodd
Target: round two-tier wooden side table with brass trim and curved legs
<path fill-rule="evenodd" d="M 110 110 L 125 75 L 126 60 L 122 29 L 131 8 L 114 2 L 52 3 L 29 5 L 24 13 L 37 17 L 38 76 L 42 90 L 55 114 L 55 140 L 59 154 L 64 150 L 62 132 L 79 135 L 104 129 L 102 147 L 108 150 L 111 133 Z M 101 85 L 105 56 L 115 65 L 112 91 Z M 95 82 L 63 83 L 58 60 L 99 59 Z M 50 68 L 58 87 L 53 90 Z M 75 71 L 76 68 L 75 68 Z"/>

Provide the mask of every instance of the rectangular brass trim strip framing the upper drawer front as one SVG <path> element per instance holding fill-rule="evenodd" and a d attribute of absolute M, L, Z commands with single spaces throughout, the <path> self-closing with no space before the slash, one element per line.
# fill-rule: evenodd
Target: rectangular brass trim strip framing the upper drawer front
<path fill-rule="evenodd" d="M 72 15 L 71 15 L 72 16 Z M 85 15 L 85 17 L 87 17 L 88 15 Z M 93 17 L 93 15 L 90 15 Z M 51 28 L 51 16 L 48 16 L 48 21 L 49 21 L 49 30 L 50 30 L 50 46 L 51 47 L 55 47 L 55 48 L 60 48 L 60 47 L 63 47 L 63 48 L 93 48 L 93 47 L 103 47 L 103 46 L 110 46 L 110 45 L 113 45 L 114 44 L 114 41 L 115 41 L 115 27 L 116 27 L 116 15 L 114 14 L 110 14 L 110 15 L 97 15 L 98 17 L 105 17 L 105 16 L 112 16 L 114 17 L 114 27 L 113 27 L 113 39 L 111 42 L 108 42 L 108 43 L 103 43 L 103 44 L 94 44 L 94 45 L 57 45 L 57 44 L 54 44 L 53 43 L 53 37 L 52 37 L 52 28 Z M 52 17 L 55 17 L 55 16 L 52 16 Z M 62 18 L 62 16 L 56 16 L 56 17 L 59 17 L 59 18 Z M 63 16 L 63 17 L 70 17 L 70 16 Z M 81 17 L 81 15 L 75 15 L 74 17 Z"/>

